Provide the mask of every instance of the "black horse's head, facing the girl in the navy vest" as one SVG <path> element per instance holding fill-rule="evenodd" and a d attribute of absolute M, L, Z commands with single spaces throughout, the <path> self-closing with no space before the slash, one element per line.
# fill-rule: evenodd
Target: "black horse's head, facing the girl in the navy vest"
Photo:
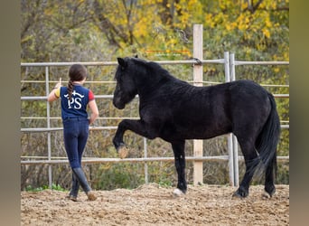
<path fill-rule="evenodd" d="M 116 108 L 123 109 L 126 104 L 136 97 L 137 89 L 133 76 L 135 67 L 130 58 L 117 58 L 118 66 L 115 74 L 117 80 L 114 91 L 113 104 Z"/>

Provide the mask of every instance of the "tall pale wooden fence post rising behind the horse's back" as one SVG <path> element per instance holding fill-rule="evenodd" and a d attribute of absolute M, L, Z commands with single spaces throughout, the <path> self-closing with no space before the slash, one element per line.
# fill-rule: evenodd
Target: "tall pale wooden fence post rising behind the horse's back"
<path fill-rule="evenodd" d="M 193 57 L 202 60 L 202 24 L 193 25 Z M 202 64 L 193 65 L 195 86 L 202 86 Z M 193 155 L 202 156 L 202 140 L 193 140 Z M 202 161 L 193 162 L 193 184 L 202 184 Z"/>

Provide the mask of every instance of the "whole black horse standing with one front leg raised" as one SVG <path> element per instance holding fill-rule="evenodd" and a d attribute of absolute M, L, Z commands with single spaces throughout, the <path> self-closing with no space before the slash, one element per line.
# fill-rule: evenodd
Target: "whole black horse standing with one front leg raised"
<path fill-rule="evenodd" d="M 275 193 L 280 121 L 275 99 L 266 89 L 250 80 L 195 87 L 174 78 L 153 61 L 126 57 L 117 58 L 117 62 L 113 104 L 125 108 L 138 94 L 140 115 L 139 120 L 124 119 L 119 123 L 113 138 L 118 152 L 126 148 L 123 136 L 127 129 L 171 143 L 177 188 L 186 193 L 185 140 L 233 133 L 246 163 L 246 173 L 234 195 L 248 196 L 257 169 L 266 172 L 265 191 L 269 196 Z"/>

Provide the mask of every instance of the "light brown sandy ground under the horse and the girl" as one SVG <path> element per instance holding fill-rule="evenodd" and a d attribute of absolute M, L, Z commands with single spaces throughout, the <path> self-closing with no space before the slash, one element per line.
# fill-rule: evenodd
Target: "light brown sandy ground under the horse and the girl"
<path fill-rule="evenodd" d="M 98 199 L 65 199 L 45 190 L 21 193 L 21 225 L 289 225 L 289 186 L 276 185 L 271 199 L 263 186 L 251 186 L 246 199 L 232 199 L 235 188 L 189 185 L 174 197 L 173 188 L 145 184 L 134 190 L 95 191 Z"/>

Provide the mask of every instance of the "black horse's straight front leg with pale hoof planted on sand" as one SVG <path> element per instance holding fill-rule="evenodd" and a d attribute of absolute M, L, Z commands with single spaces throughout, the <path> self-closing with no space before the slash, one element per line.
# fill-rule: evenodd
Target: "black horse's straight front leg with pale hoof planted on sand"
<path fill-rule="evenodd" d="M 185 180 L 185 141 L 172 142 L 175 167 L 178 174 L 177 188 L 173 191 L 174 195 L 181 195 L 187 192 L 187 182 Z"/>

